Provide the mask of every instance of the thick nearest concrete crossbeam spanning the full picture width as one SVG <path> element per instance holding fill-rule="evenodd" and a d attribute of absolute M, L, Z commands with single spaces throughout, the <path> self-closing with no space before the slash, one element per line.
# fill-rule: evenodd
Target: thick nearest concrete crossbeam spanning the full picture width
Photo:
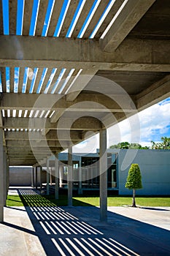
<path fill-rule="evenodd" d="M 169 40 L 124 39 L 112 53 L 103 52 L 96 39 L 3 35 L 0 41 L 1 67 L 53 68 L 59 65 L 70 69 L 168 72 L 170 66 Z M 18 45 L 22 59 L 16 54 Z"/>

